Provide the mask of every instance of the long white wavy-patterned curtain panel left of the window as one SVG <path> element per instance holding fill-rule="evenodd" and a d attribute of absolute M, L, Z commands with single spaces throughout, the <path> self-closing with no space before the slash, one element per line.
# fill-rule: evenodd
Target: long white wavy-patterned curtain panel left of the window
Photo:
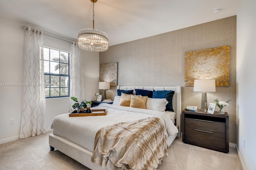
<path fill-rule="evenodd" d="M 24 102 L 20 139 L 47 133 L 42 31 L 25 31 Z"/>

